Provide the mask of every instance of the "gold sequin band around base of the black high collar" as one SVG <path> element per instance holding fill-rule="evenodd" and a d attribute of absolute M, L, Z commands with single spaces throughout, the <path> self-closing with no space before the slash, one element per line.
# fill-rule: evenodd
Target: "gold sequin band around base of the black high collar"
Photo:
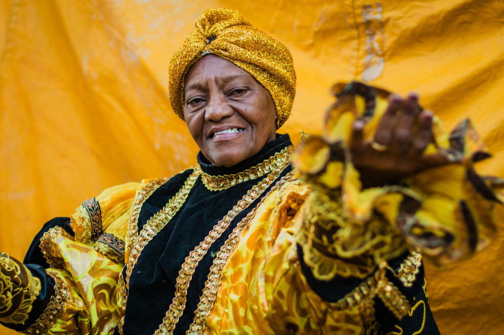
<path fill-rule="evenodd" d="M 207 189 L 211 191 L 221 191 L 231 186 L 262 177 L 275 170 L 283 170 L 282 166 L 285 166 L 286 163 L 290 163 L 292 151 L 293 146 L 290 145 L 252 168 L 234 175 L 210 176 L 202 172 L 201 178 Z"/>

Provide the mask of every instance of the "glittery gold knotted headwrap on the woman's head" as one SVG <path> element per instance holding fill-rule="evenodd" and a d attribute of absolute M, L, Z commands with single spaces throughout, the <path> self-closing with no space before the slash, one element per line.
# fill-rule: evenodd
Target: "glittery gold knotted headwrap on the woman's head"
<path fill-rule="evenodd" d="M 296 73 L 289 50 L 253 27 L 235 10 L 209 9 L 175 53 L 169 67 L 170 102 L 184 119 L 185 74 L 202 56 L 211 53 L 250 73 L 272 96 L 277 128 L 287 120 L 296 94 Z"/>

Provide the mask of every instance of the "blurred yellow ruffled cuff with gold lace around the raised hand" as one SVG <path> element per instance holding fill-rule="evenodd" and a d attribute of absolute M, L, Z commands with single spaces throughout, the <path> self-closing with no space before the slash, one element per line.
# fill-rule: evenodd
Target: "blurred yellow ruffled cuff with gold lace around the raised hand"
<path fill-rule="evenodd" d="M 435 118 L 424 155 L 439 155 L 446 164 L 363 189 L 346 145 L 357 118 L 366 121 L 364 138 L 372 140 L 389 93 L 358 82 L 336 85 L 334 92 L 338 101 L 326 115 L 323 137 L 308 138 L 293 157 L 314 189 L 298 233 L 314 275 L 364 278 L 406 248 L 442 266 L 485 247 L 495 232 L 502 180 L 476 173 L 474 163 L 490 155 L 470 121 L 448 134 Z"/>

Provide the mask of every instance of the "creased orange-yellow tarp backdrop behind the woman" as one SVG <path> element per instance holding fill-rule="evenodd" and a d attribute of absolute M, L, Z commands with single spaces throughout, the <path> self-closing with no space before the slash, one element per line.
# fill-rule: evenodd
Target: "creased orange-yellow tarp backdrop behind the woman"
<path fill-rule="evenodd" d="M 22 259 L 46 221 L 104 188 L 196 162 L 167 68 L 212 7 L 241 11 L 291 50 L 297 97 L 281 132 L 295 143 L 320 133 L 332 83 L 365 79 L 418 92 L 447 128 L 470 117 L 494 154 L 478 169 L 504 176 L 501 0 L 0 0 L 0 250 Z M 504 333 L 503 240 L 500 220 L 473 259 L 427 264 L 441 333 Z"/>

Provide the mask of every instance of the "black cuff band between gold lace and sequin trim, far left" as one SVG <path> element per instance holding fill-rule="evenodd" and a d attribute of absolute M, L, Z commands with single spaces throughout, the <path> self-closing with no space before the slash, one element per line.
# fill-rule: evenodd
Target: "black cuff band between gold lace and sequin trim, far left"
<path fill-rule="evenodd" d="M 31 305 L 32 307 L 30 313 L 28 313 L 28 320 L 26 320 L 23 324 L 0 322 L 0 324 L 16 331 L 24 331 L 28 329 L 29 326 L 32 325 L 38 317 L 40 317 L 51 300 L 51 297 L 54 295 L 54 279 L 46 273 L 45 268 L 36 264 L 25 264 L 25 266 L 34 277 L 40 279 L 42 288 L 40 290 L 40 294 Z"/>

